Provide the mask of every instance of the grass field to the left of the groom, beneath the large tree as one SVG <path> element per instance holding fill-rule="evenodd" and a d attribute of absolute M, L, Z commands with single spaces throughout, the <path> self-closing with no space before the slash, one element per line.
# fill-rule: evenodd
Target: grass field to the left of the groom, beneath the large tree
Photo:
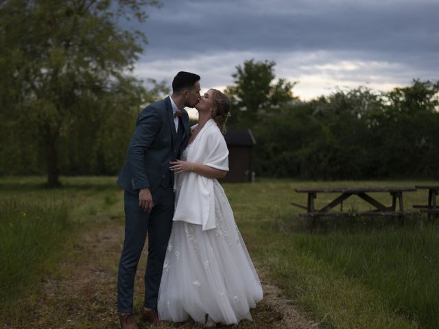
<path fill-rule="evenodd" d="M 20 297 L 56 275 L 78 230 L 123 218 L 114 181 L 68 178 L 47 189 L 45 178 L 0 178 L 0 319 L 18 316 Z"/>

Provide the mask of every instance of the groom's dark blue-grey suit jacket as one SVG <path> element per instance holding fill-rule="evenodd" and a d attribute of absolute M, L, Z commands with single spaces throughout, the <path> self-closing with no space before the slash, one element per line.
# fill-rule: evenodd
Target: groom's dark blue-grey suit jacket
<path fill-rule="evenodd" d="M 126 162 L 117 180 L 119 186 L 132 194 L 139 194 L 141 188 L 154 191 L 163 179 L 169 178 L 169 162 L 180 156 L 189 140 L 189 115 L 185 110 L 183 112 L 180 118 L 184 128 L 183 141 L 180 147 L 176 147 L 177 133 L 169 97 L 141 111 L 128 146 Z"/>

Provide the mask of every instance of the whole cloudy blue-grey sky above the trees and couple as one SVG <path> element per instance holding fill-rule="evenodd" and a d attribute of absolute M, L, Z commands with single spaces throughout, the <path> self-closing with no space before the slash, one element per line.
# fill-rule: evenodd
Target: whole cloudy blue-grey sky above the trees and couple
<path fill-rule="evenodd" d="M 273 60 L 276 77 L 312 99 L 335 88 L 374 90 L 439 79 L 438 0 L 162 0 L 141 26 L 149 44 L 137 77 L 202 91 L 233 84 L 245 60 Z"/>

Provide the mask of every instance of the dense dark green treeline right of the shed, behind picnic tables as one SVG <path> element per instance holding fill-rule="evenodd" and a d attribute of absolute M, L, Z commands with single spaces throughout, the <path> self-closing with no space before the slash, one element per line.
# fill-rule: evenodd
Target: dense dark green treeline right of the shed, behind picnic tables
<path fill-rule="evenodd" d="M 257 175 L 311 180 L 439 178 L 438 82 L 360 86 L 295 101 L 254 126 Z"/>

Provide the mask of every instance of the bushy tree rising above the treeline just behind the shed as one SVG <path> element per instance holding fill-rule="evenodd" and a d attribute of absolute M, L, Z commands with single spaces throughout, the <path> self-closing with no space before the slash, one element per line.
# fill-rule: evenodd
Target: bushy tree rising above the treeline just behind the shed
<path fill-rule="evenodd" d="M 232 75 L 235 85 L 226 88 L 232 101 L 230 126 L 253 127 L 264 117 L 281 112 L 282 104 L 295 98 L 292 93 L 295 82 L 284 79 L 273 82 L 275 64 L 268 60 L 247 60 L 243 66 L 236 66 L 237 71 Z"/>

